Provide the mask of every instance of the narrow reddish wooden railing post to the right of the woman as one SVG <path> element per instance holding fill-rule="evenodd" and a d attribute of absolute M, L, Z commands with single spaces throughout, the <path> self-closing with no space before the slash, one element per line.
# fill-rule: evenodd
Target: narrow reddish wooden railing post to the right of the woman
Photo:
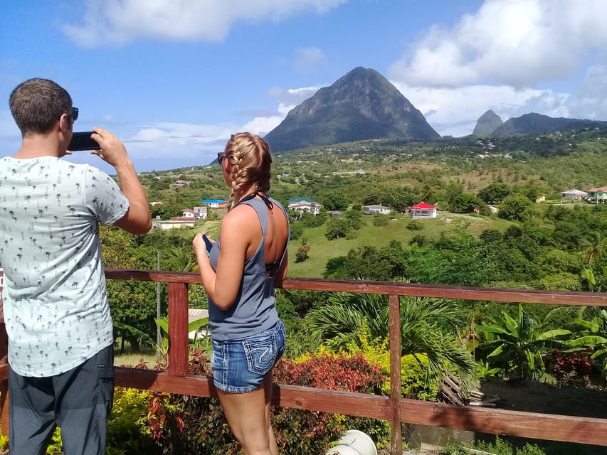
<path fill-rule="evenodd" d="M 390 455 L 403 453 L 401 432 L 401 306 L 398 296 L 389 297 L 390 331 Z"/>

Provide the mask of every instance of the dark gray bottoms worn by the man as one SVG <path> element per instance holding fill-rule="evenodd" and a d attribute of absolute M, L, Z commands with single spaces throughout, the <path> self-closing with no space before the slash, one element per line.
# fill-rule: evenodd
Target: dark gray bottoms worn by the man
<path fill-rule="evenodd" d="M 65 455 L 104 455 L 107 418 L 114 398 L 114 349 L 48 378 L 9 369 L 11 455 L 43 455 L 61 428 Z"/>

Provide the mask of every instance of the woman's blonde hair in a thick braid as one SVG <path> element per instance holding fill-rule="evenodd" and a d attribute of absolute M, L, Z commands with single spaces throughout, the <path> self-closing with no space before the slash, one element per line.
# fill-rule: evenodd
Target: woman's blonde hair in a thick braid
<path fill-rule="evenodd" d="M 250 133 L 232 134 L 225 149 L 231 164 L 231 188 L 229 206 L 233 208 L 251 186 L 255 192 L 270 191 L 270 146 L 261 137 Z"/>

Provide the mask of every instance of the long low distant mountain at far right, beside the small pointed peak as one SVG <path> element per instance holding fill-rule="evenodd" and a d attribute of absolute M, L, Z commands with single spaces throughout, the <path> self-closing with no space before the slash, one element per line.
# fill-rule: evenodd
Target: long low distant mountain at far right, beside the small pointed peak
<path fill-rule="evenodd" d="M 567 119 L 564 117 L 548 117 L 547 115 L 524 114 L 520 117 L 507 119 L 494 134 L 507 136 L 509 134 L 554 133 L 569 129 L 607 127 L 607 122 L 599 120 Z"/>

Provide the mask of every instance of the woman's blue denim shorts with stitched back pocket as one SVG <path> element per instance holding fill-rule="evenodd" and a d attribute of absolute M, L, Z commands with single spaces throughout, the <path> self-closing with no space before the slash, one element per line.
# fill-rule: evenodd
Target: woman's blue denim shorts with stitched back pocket
<path fill-rule="evenodd" d="M 275 326 L 255 335 L 214 341 L 211 369 L 215 387 L 230 393 L 252 392 L 285 352 L 285 326 Z"/>

